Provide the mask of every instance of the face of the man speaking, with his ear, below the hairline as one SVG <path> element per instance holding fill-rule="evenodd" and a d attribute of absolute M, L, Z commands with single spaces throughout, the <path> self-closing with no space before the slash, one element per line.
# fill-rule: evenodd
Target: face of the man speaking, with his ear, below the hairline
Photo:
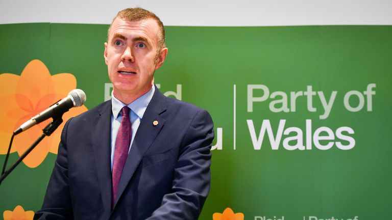
<path fill-rule="evenodd" d="M 113 21 L 104 57 L 113 94 L 120 101 L 132 102 L 154 84 L 154 71 L 167 54 L 167 48 L 158 51 L 158 33 L 153 19 L 126 21 L 117 17 Z"/>

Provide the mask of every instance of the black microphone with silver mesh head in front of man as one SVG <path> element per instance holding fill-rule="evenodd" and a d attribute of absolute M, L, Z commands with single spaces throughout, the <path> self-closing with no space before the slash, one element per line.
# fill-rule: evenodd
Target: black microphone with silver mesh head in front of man
<path fill-rule="evenodd" d="M 14 135 L 25 131 L 33 125 L 39 124 L 48 118 L 61 117 L 65 112 L 68 112 L 71 107 L 82 106 L 86 101 L 86 94 L 83 90 L 74 89 L 68 93 L 68 96 L 46 108 L 45 111 L 34 116 L 29 121 L 24 122 L 18 129 L 14 131 Z"/>

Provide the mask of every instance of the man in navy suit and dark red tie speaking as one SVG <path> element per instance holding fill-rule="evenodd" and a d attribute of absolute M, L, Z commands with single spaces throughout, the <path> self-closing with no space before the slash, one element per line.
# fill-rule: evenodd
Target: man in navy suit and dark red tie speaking
<path fill-rule="evenodd" d="M 104 52 L 112 100 L 66 122 L 35 219 L 198 218 L 210 186 L 213 124 L 205 110 L 154 86 L 166 54 L 155 14 L 117 14 Z"/>

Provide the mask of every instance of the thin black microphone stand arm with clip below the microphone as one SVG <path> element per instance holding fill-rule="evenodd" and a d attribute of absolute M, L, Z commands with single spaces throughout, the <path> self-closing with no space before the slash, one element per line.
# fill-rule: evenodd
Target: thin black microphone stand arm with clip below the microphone
<path fill-rule="evenodd" d="M 16 162 L 14 164 L 12 164 L 12 166 L 10 167 L 10 169 L 8 169 L 1 177 L 0 177 L 0 184 L 3 182 L 3 180 L 8 176 L 8 174 L 10 174 L 15 168 L 16 166 L 18 166 L 18 164 L 24 159 L 24 157 L 26 157 L 41 141 L 45 136 L 50 136 L 59 126 L 60 124 L 63 122 L 62 119 L 62 115 L 53 118 L 53 121 L 51 123 L 49 123 L 48 125 L 46 125 L 46 127 L 42 130 L 43 134 L 41 136 L 38 137 L 38 139 L 30 146 L 29 149 L 27 149 L 26 152 L 24 152 L 18 160 L 16 160 Z"/>

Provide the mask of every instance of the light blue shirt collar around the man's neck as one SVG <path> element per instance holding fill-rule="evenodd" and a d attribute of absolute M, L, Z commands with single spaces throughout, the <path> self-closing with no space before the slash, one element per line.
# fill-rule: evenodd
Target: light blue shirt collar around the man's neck
<path fill-rule="evenodd" d="M 145 109 L 147 108 L 151 99 L 153 98 L 154 92 L 155 92 L 155 86 L 153 85 L 148 92 L 144 93 L 142 96 L 140 96 L 139 98 L 137 98 L 135 101 L 131 102 L 128 105 L 128 107 L 131 108 L 132 112 L 134 112 L 140 119 L 143 118 Z M 121 108 L 124 106 L 126 106 L 126 104 L 116 99 L 112 91 L 112 114 L 115 119 L 118 117 Z"/>

